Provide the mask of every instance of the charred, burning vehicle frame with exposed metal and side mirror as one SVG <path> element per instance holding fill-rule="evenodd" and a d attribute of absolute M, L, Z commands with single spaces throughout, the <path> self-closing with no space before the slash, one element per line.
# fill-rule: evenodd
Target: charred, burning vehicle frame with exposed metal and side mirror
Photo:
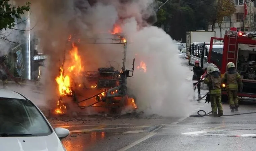
<path fill-rule="evenodd" d="M 108 42 L 99 42 L 99 40 L 107 40 Z M 92 41 L 93 40 L 93 41 Z M 124 107 L 127 101 L 132 101 L 129 98 L 133 98 L 133 101 L 135 101 L 135 97 L 133 95 L 130 95 L 127 92 L 127 78 L 133 76 L 134 72 L 134 61 L 132 64 L 132 69 L 127 70 L 125 69 L 125 62 L 126 62 L 126 51 L 127 51 L 127 42 L 122 36 L 118 36 L 118 38 L 98 38 L 98 39 L 89 39 L 91 42 L 87 42 L 88 44 L 123 44 L 124 52 L 123 52 L 123 66 L 121 71 L 114 71 L 114 67 L 110 68 L 98 68 L 98 71 L 86 71 L 84 72 L 84 77 L 86 81 L 97 83 L 95 87 L 93 88 L 84 88 L 86 90 L 88 89 L 97 89 L 100 90 L 100 93 L 97 93 L 89 98 L 78 100 L 77 94 L 76 94 L 76 88 L 77 84 L 74 84 L 74 87 L 71 88 L 72 95 L 66 95 L 69 97 L 73 97 L 73 102 L 77 104 L 77 106 L 80 109 L 85 109 L 87 107 L 105 107 L 108 110 L 115 110 L 115 108 Z M 65 57 L 64 57 L 65 60 Z M 129 73 L 132 72 L 132 75 L 129 75 Z M 86 91 L 85 90 L 85 91 Z M 105 95 L 101 95 L 104 93 Z M 101 96 L 100 96 L 101 95 Z M 90 100 L 92 98 L 96 98 L 97 102 L 87 105 L 87 106 L 81 106 L 79 103 Z M 96 106 L 96 104 L 104 102 L 104 105 Z M 118 104 L 118 105 L 115 105 Z M 134 102 L 131 102 L 132 104 Z M 136 108 L 135 108 L 136 109 Z M 116 111 L 116 110 L 115 110 Z"/>

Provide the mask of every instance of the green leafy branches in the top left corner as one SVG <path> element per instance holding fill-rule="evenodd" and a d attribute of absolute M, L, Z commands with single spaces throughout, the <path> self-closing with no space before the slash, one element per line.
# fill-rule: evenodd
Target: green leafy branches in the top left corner
<path fill-rule="evenodd" d="M 0 30 L 15 26 L 15 18 L 21 19 L 21 14 L 25 11 L 29 11 L 30 2 L 27 2 L 24 6 L 12 6 L 9 4 L 10 0 L 0 0 Z"/>

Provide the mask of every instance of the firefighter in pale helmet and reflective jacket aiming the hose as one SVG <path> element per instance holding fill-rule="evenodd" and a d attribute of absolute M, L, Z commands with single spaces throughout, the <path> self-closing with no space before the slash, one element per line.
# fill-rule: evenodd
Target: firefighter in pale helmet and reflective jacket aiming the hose
<path fill-rule="evenodd" d="M 204 77 L 204 84 L 207 84 L 210 92 L 212 106 L 212 116 L 222 116 L 223 109 L 221 104 L 221 78 L 220 73 L 213 66 L 207 67 L 207 74 Z M 217 115 L 218 108 L 218 115 Z"/>

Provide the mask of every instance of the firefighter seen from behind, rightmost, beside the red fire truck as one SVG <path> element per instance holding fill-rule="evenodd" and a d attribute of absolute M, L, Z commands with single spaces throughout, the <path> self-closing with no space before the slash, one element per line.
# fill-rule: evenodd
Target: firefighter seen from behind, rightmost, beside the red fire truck
<path fill-rule="evenodd" d="M 226 84 L 227 95 L 231 112 L 238 111 L 238 97 L 237 91 L 243 91 L 243 82 L 240 74 L 235 70 L 233 62 L 227 63 L 227 71 L 223 74 L 221 83 Z"/>

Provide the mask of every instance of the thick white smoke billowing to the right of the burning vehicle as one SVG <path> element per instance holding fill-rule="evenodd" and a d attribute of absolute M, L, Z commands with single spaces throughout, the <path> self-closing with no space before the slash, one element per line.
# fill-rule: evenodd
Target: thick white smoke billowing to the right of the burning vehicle
<path fill-rule="evenodd" d="M 137 4 L 143 4 L 143 2 L 148 1 L 140 0 Z M 141 28 L 141 10 L 147 8 L 149 3 L 128 7 L 135 4 L 124 5 L 123 11 L 120 7 L 116 11 L 111 7 L 117 6 L 116 3 L 98 4 L 92 9 L 94 13 L 100 15 L 97 18 L 104 19 L 95 19 L 94 23 L 102 26 L 108 24 L 105 20 L 113 22 L 120 12 L 122 12 L 121 15 L 124 15 L 124 12 L 129 14 L 128 16 L 131 17 L 122 20 L 121 27 L 128 42 L 126 68 L 131 68 L 134 57 L 136 60 L 134 76 L 128 79 L 128 87 L 134 89 L 138 110 L 161 116 L 186 115 L 191 109 L 189 94 L 192 94 L 192 84 L 186 81 L 189 69 L 181 65 L 182 60 L 177 55 L 178 46 L 175 44 L 177 42 L 155 26 Z M 134 8 L 137 10 L 135 11 Z M 151 12 L 148 11 L 148 13 Z M 96 30 L 100 29 L 96 28 Z M 141 61 L 147 65 L 146 73 L 136 69 Z"/>

